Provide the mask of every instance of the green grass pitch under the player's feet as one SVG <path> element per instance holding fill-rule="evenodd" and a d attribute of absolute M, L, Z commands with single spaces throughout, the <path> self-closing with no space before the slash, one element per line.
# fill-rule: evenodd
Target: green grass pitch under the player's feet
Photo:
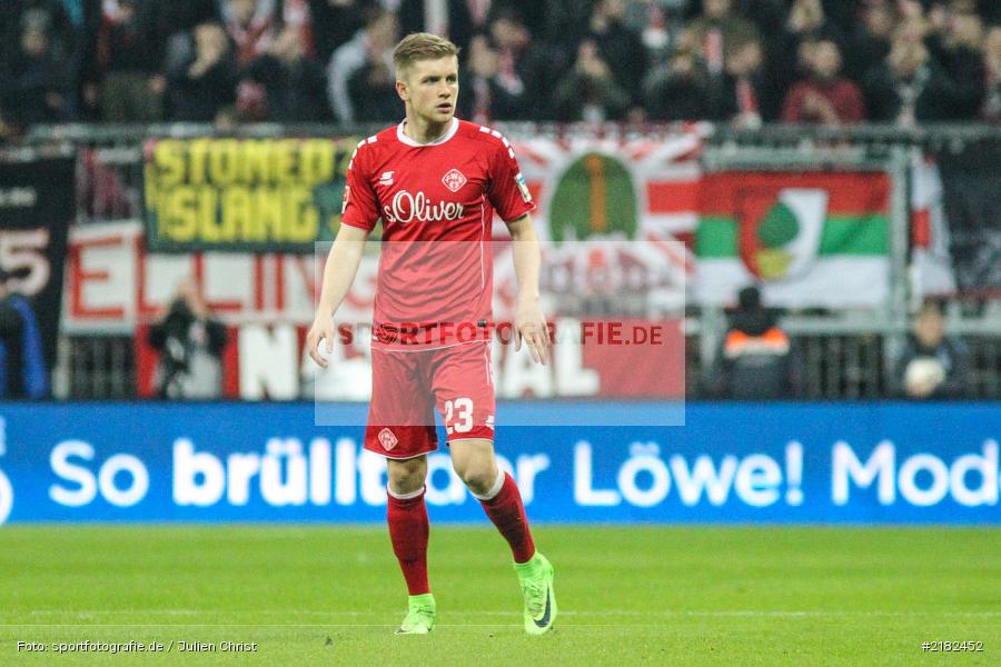
<path fill-rule="evenodd" d="M 0 665 L 999 665 L 995 528 L 557 527 L 555 634 L 523 635 L 506 545 L 432 526 L 438 627 L 396 637 L 384 527 L 7 526 Z M 49 645 L 46 653 L 18 641 Z M 57 655 L 66 641 L 171 653 Z M 256 653 L 178 653 L 178 641 Z M 982 653 L 925 653 L 923 641 Z"/>

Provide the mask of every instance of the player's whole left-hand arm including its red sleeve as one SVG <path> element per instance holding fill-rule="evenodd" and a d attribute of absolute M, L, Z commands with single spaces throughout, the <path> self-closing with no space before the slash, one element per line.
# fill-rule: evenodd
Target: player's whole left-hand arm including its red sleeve
<path fill-rule="evenodd" d="M 367 151 L 363 150 L 366 143 L 374 141 L 374 138 L 369 138 L 359 143 L 348 163 L 340 229 L 334 239 L 330 253 L 327 255 L 316 319 L 309 328 L 309 334 L 306 335 L 306 349 L 309 350 L 309 356 L 324 368 L 327 367 L 327 360 L 319 354 L 319 341 L 326 340 L 324 347 L 327 354 L 334 351 L 334 313 L 355 281 L 365 250 L 365 240 L 379 218 L 376 196 L 368 178 Z"/>

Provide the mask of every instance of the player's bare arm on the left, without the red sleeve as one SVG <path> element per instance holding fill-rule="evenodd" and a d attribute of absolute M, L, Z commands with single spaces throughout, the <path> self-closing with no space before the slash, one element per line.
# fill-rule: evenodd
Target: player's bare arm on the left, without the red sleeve
<path fill-rule="evenodd" d="M 355 281 L 367 238 L 368 231 L 341 225 L 327 255 L 316 319 L 313 320 L 309 334 L 306 335 L 306 349 L 309 350 L 309 356 L 324 368 L 327 367 L 327 360 L 319 354 L 319 341 L 326 341 L 324 347 L 328 355 L 334 351 L 334 313 Z"/>

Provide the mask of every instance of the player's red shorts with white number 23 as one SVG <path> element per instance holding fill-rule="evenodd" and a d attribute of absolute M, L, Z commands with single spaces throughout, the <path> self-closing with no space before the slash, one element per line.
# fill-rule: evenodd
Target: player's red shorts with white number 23
<path fill-rule="evenodd" d="M 447 441 L 494 439 L 494 372 L 488 341 L 436 350 L 371 351 L 365 449 L 407 459 L 438 448 L 435 409 Z"/>

